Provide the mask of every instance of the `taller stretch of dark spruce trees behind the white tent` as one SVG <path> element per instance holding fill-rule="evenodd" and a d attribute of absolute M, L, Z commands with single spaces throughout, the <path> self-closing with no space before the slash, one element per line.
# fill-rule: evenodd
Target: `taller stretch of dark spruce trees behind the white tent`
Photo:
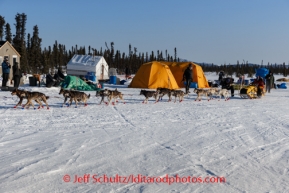
<path fill-rule="evenodd" d="M 117 68 L 119 72 L 123 72 L 126 67 L 135 73 L 140 65 L 145 62 L 159 60 L 159 61 L 179 61 L 177 58 L 177 49 L 174 48 L 174 55 L 170 55 L 166 50 L 154 51 L 148 53 L 141 53 L 137 48 L 129 44 L 128 54 L 114 49 L 114 42 L 107 45 L 105 42 L 105 49 L 96 49 L 88 46 L 75 45 L 67 49 L 65 45 L 54 42 L 53 46 L 42 49 L 42 39 L 39 37 L 38 26 L 33 27 L 33 33 L 28 33 L 26 36 L 26 22 L 27 15 L 25 13 L 17 13 L 15 16 L 16 23 L 15 34 L 12 35 L 9 23 L 6 23 L 5 18 L 0 15 L 0 40 L 9 41 L 17 52 L 21 55 L 20 63 L 23 72 L 27 73 L 49 73 L 53 69 L 59 69 L 66 66 L 69 60 L 75 54 L 81 55 L 95 55 L 103 56 L 110 68 Z"/>

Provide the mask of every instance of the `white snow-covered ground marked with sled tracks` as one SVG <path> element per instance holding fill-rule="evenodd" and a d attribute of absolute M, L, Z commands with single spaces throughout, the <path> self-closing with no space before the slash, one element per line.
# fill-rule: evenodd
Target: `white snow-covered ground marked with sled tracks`
<path fill-rule="evenodd" d="M 50 96 L 50 110 L 21 110 L 0 91 L 0 192 L 289 192 L 287 89 L 255 100 L 195 102 L 190 94 L 145 105 L 140 89 L 105 86 L 126 104 L 98 105 L 87 92 L 87 107 L 61 108 L 59 88 L 24 87 Z M 104 175 L 226 182 L 94 183 Z"/>

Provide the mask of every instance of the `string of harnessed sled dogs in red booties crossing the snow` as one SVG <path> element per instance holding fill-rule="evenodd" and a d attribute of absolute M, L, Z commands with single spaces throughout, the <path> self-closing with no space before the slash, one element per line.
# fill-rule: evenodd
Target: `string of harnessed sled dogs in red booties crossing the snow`
<path fill-rule="evenodd" d="M 218 97 L 219 100 L 223 96 L 225 98 L 225 101 L 229 99 L 229 92 L 227 89 L 218 89 L 218 88 L 209 88 L 209 89 L 194 89 L 194 93 L 197 94 L 197 100 L 201 100 L 202 96 L 206 96 L 208 101 L 212 100 L 213 97 Z M 90 94 L 86 94 L 84 92 L 80 91 L 75 91 L 75 90 L 66 90 L 61 88 L 60 95 L 63 95 L 64 97 L 64 102 L 62 106 L 66 105 L 71 106 L 72 102 L 75 102 L 75 107 L 77 107 L 79 102 L 82 102 L 84 106 L 87 106 L 87 100 L 90 98 Z M 177 98 L 179 98 L 179 102 L 182 102 L 184 100 L 185 96 L 188 96 L 189 92 L 186 93 L 182 90 L 173 90 L 173 89 L 168 89 L 168 88 L 157 88 L 155 91 L 152 90 L 141 90 L 140 95 L 144 95 L 145 99 L 142 103 L 147 103 L 148 99 L 153 97 L 155 99 L 155 103 L 159 102 L 162 100 L 162 98 L 167 95 L 168 96 L 168 102 L 172 101 L 172 97 L 175 97 L 175 101 Z M 47 100 L 49 99 L 49 96 L 46 96 L 45 94 L 41 92 L 30 92 L 30 91 L 25 91 L 25 90 L 19 90 L 15 89 L 11 92 L 11 95 L 16 95 L 20 101 L 14 106 L 14 108 L 17 108 L 17 106 L 22 106 L 23 99 L 27 99 L 26 104 L 22 106 L 22 108 L 29 108 L 32 106 L 34 109 L 34 104 L 33 101 L 39 104 L 38 109 L 44 108 L 42 102 L 46 104 L 47 109 L 49 109 Z M 117 89 L 115 90 L 99 90 L 96 91 L 96 97 L 101 97 L 101 101 L 99 104 L 104 102 L 105 104 L 109 105 L 112 104 L 114 105 L 116 102 L 118 102 L 118 99 L 122 100 L 122 102 L 125 104 L 125 101 L 123 99 L 123 94 L 118 91 Z M 104 101 L 105 97 L 107 98 L 107 102 Z M 69 99 L 69 102 L 67 100 Z"/>

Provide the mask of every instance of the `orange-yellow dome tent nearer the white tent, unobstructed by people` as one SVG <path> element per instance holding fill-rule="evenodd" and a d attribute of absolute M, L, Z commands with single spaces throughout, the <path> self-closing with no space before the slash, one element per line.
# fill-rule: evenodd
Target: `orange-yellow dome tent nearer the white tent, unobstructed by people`
<path fill-rule="evenodd" d="M 170 68 L 162 62 L 148 62 L 139 68 L 133 77 L 130 88 L 179 88 Z"/>

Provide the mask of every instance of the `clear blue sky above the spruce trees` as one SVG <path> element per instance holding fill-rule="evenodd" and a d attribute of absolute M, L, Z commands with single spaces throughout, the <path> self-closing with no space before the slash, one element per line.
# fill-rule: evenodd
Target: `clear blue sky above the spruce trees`
<path fill-rule="evenodd" d="M 15 15 L 27 15 L 26 34 L 39 27 L 42 47 L 55 40 L 128 53 L 157 50 L 214 64 L 289 63 L 288 0 L 0 0 L 0 15 L 15 33 Z"/>

